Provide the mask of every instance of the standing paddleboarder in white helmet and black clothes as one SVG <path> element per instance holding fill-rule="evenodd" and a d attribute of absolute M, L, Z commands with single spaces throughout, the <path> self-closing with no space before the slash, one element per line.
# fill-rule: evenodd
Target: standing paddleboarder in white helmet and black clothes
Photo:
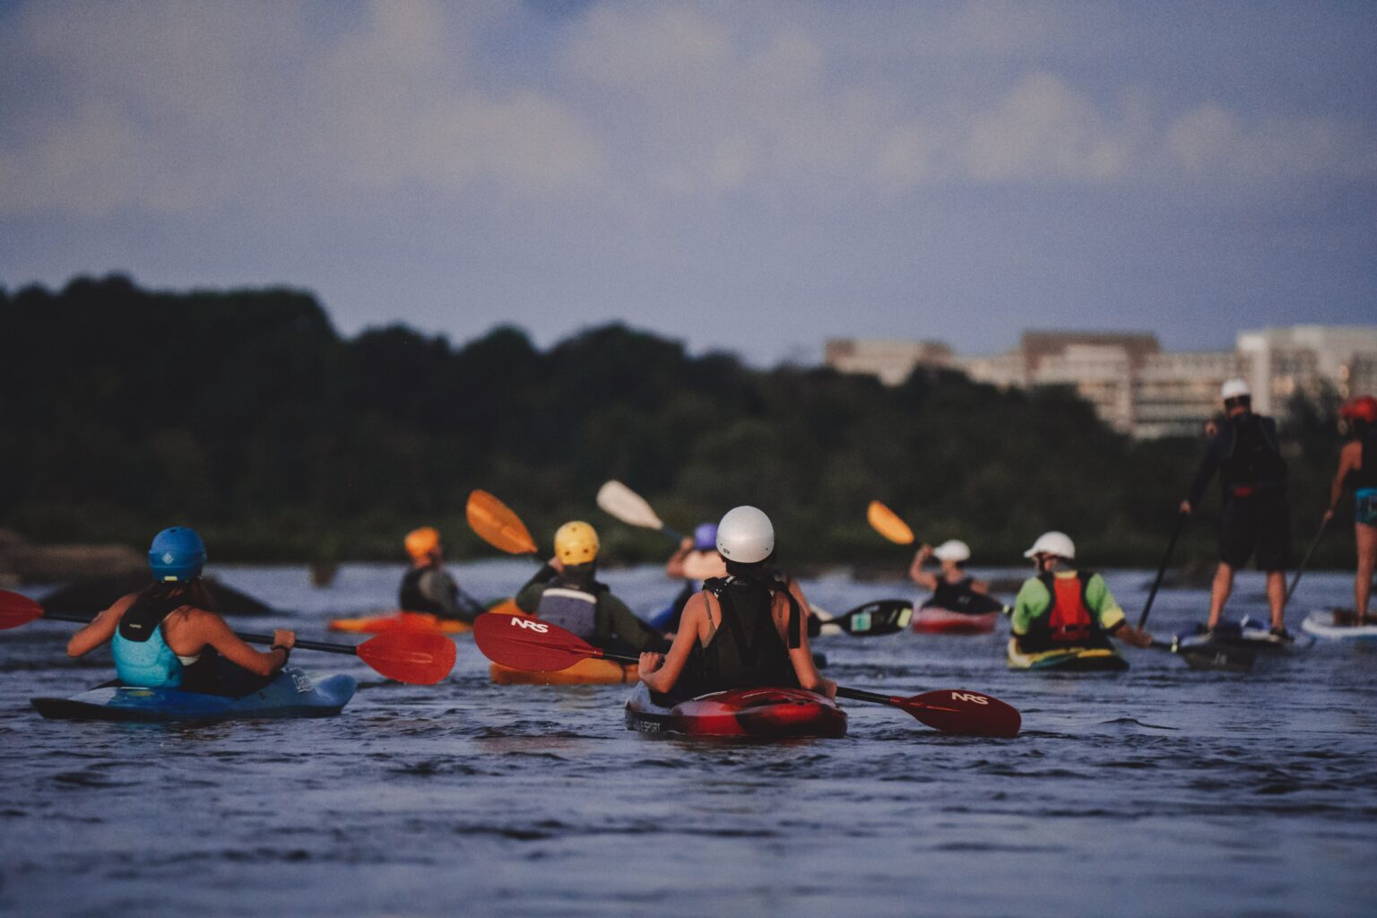
<path fill-rule="evenodd" d="M 1253 414 L 1248 383 L 1228 380 L 1220 389 L 1226 418 L 1205 449 L 1190 495 L 1180 512 L 1199 506 L 1215 472 L 1219 472 L 1224 504 L 1219 522 L 1219 570 L 1210 589 L 1209 621 L 1215 630 L 1230 593 L 1234 571 L 1253 557 L 1267 573 L 1267 601 L 1272 634 L 1290 640 L 1283 618 L 1286 604 L 1286 560 L 1290 553 L 1290 498 L 1286 493 L 1286 460 L 1276 438 L 1276 421 Z"/>

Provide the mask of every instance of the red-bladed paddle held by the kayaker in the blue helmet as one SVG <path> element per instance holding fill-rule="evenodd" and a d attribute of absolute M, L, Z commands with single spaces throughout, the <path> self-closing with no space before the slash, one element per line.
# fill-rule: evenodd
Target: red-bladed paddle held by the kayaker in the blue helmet
<path fill-rule="evenodd" d="M 45 618 L 54 622 L 76 622 L 90 625 L 91 619 L 69 612 L 44 612 L 43 606 L 10 590 L 0 590 L 0 630 L 19 628 Z M 273 644 L 273 634 L 249 634 L 234 632 L 234 636 L 249 644 Z M 351 654 L 372 666 L 377 673 L 399 683 L 412 685 L 434 685 L 449 676 L 454 668 L 457 650 L 454 641 L 443 634 L 432 634 L 413 629 L 394 629 L 358 644 L 330 644 L 326 641 L 297 640 L 293 650 L 318 650 L 328 654 Z"/>

